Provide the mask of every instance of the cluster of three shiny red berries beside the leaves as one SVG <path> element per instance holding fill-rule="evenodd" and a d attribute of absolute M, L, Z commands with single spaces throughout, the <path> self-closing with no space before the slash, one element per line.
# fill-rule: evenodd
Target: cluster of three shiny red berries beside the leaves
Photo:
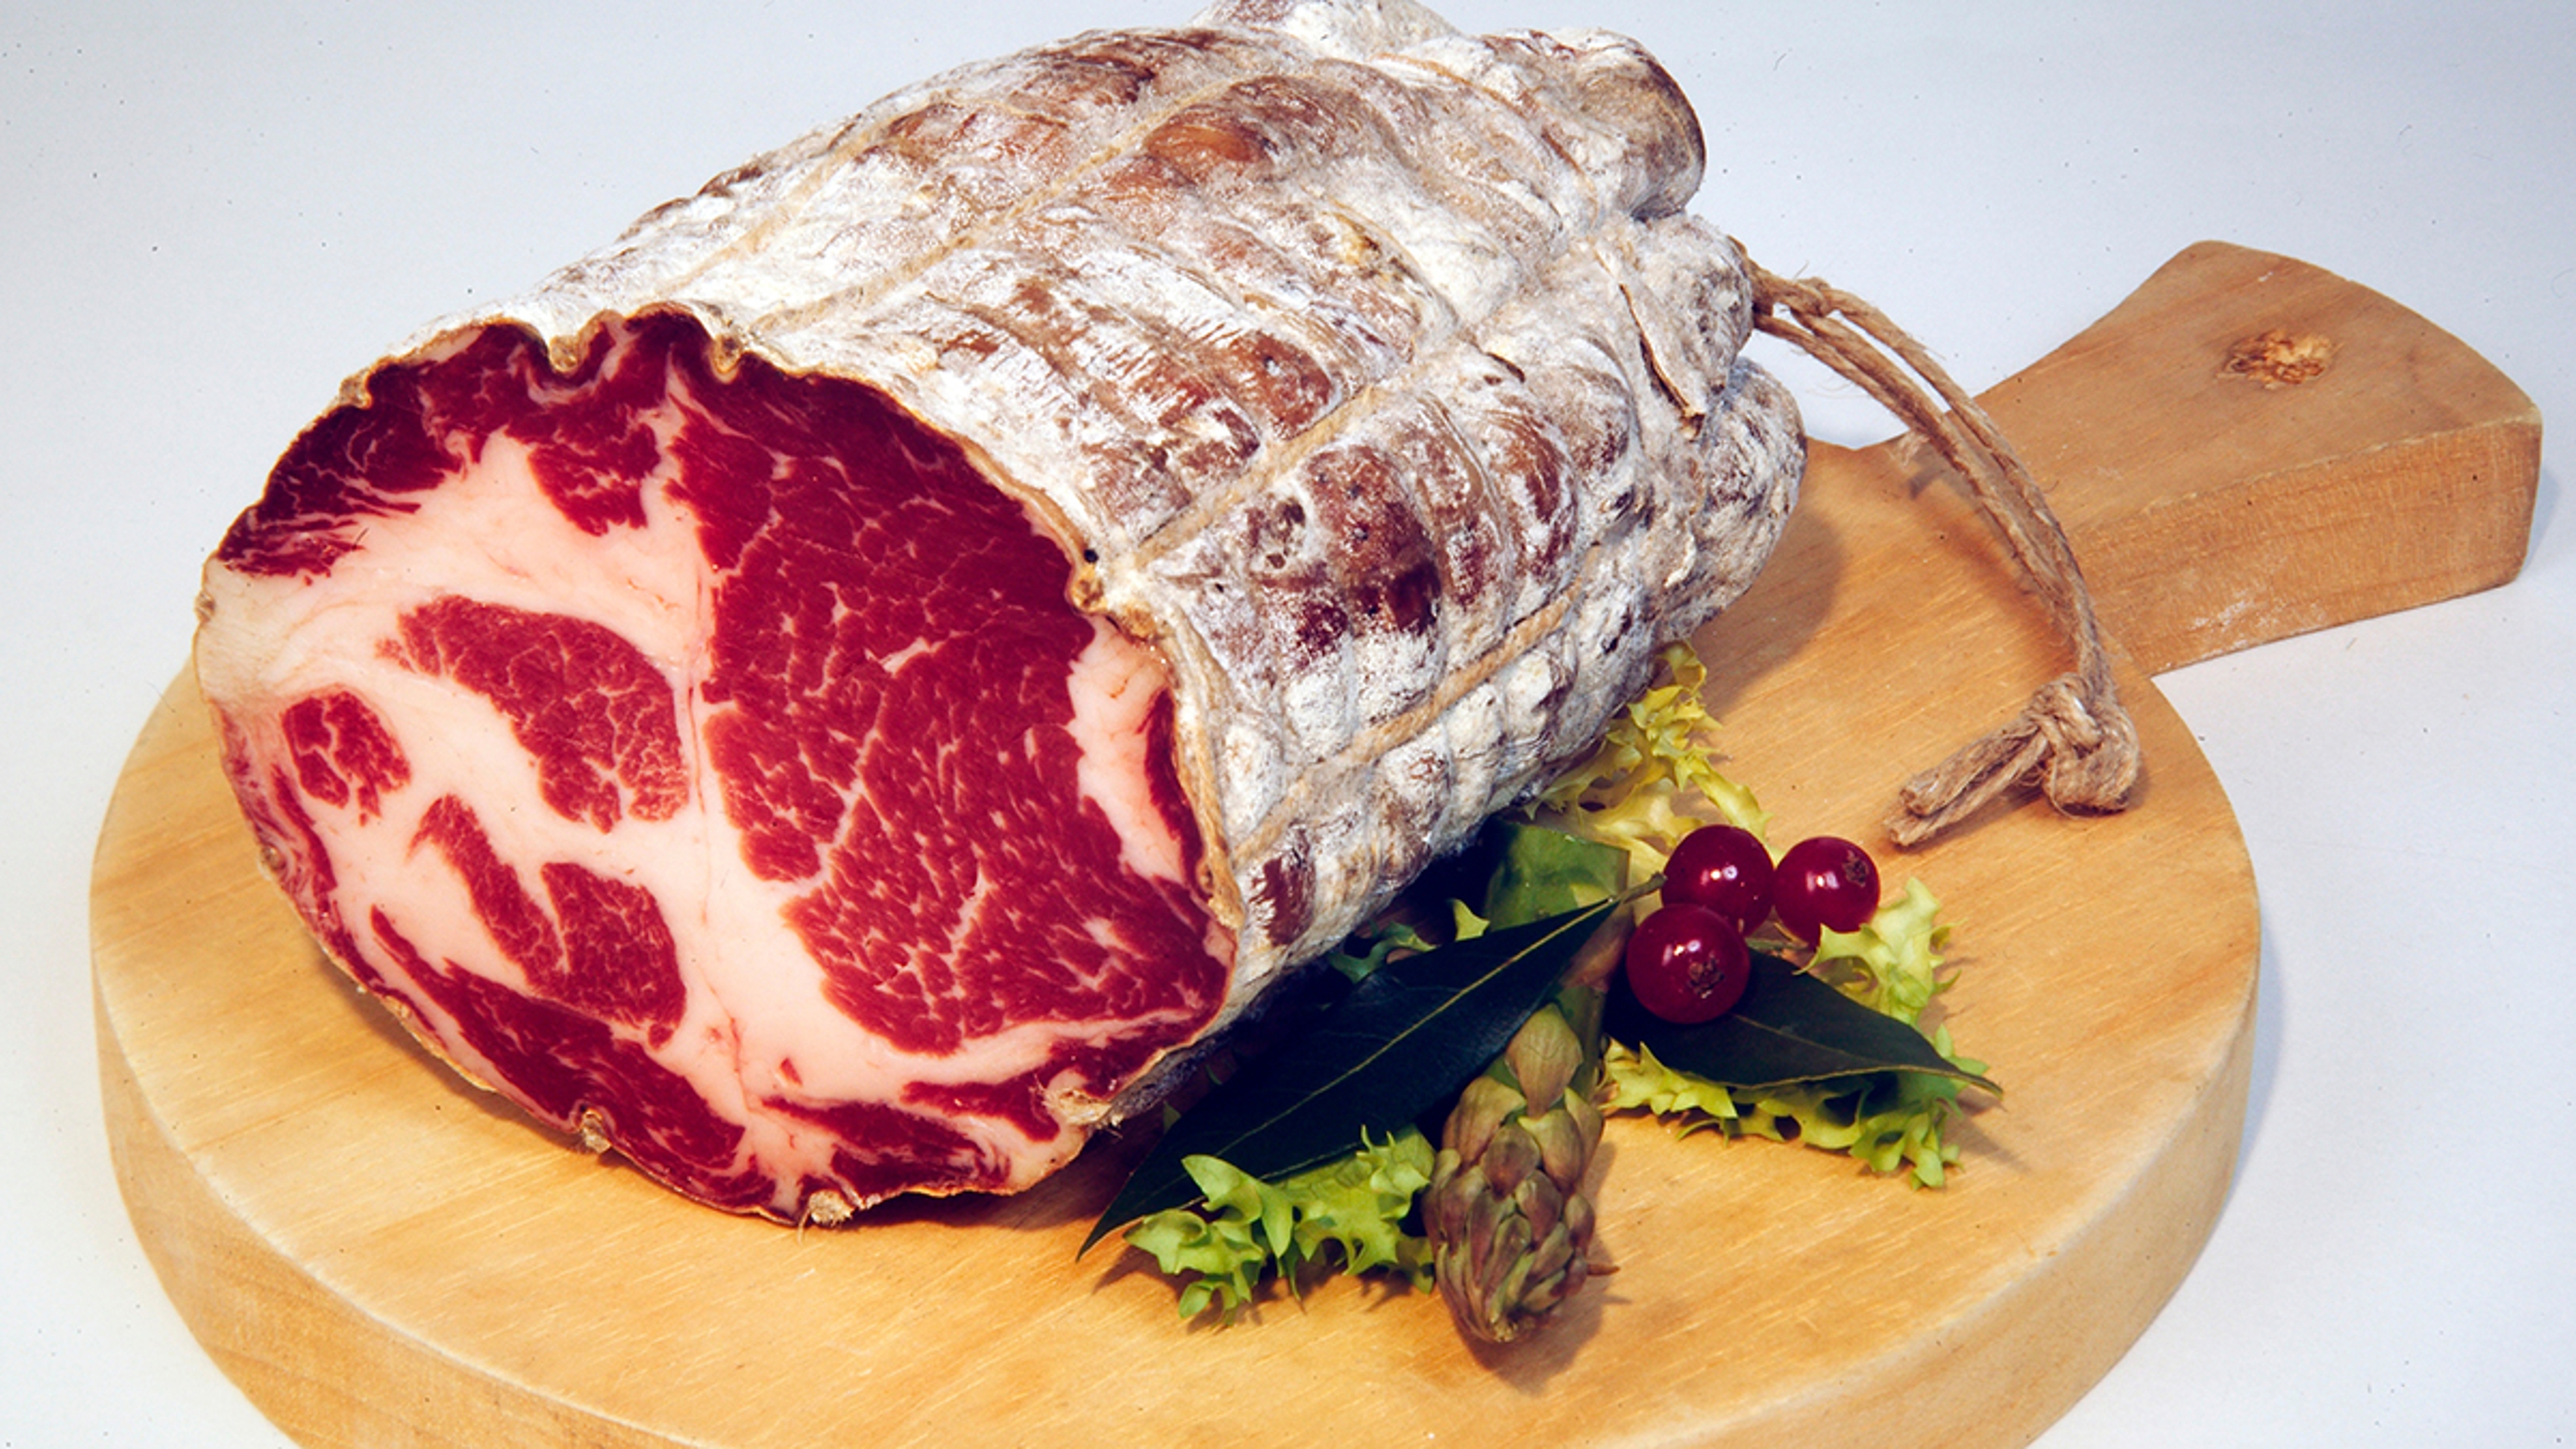
<path fill-rule="evenodd" d="M 1628 936 L 1628 990 L 1682 1026 L 1734 1011 L 1752 980 L 1744 938 L 1767 920 L 1816 944 L 1816 931 L 1860 931 L 1878 913 L 1878 864 L 1834 835 L 1770 846 L 1736 825 L 1700 825 L 1664 866 L 1664 905 Z"/>

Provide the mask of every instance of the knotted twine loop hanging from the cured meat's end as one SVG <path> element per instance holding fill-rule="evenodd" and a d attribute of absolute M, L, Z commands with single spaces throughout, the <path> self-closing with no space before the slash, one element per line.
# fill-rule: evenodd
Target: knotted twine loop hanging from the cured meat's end
<path fill-rule="evenodd" d="M 1868 302 L 1824 281 L 1747 266 L 1754 325 L 1855 382 L 1932 443 L 1968 482 L 2074 647 L 2074 668 L 2043 683 L 2020 714 L 1899 789 L 1888 835 L 1917 846 L 2020 784 L 2038 784 L 2069 815 L 2128 807 L 2138 784 L 2138 730 L 2112 686 L 2076 552 L 2012 441 L 1922 343 Z"/>

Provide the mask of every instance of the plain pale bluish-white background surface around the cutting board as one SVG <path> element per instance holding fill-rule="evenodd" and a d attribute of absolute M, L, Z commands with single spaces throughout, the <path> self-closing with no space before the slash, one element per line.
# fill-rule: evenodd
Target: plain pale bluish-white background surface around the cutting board
<path fill-rule="evenodd" d="M 1643 39 L 1703 113 L 1700 211 L 1775 271 L 1883 304 L 1971 387 L 2218 237 L 2414 307 L 2576 418 L 2576 8 L 1929 10 L 1450 18 Z M 108 789 L 185 657 L 198 559 L 278 449 L 415 325 L 520 291 L 757 150 L 953 62 L 1177 18 L 0 10 L 0 1446 L 281 1444 L 134 1243 L 85 941 Z M 1842 387 L 1798 387 L 1819 436 L 1893 431 Z M 2262 890 L 2251 1119 L 2197 1269 L 2048 1449 L 2576 1434 L 2563 474 L 2545 454 L 2509 588 L 2161 681 Z"/>

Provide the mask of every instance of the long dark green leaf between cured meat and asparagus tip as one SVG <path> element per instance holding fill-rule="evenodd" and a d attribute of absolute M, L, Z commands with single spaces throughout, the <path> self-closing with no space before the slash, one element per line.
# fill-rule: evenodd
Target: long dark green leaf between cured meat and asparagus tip
<path fill-rule="evenodd" d="M 1185 1111 L 1082 1248 L 1149 1212 L 1198 1201 L 1182 1158 L 1224 1158 L 1275 1183 L 1358 1152 L 1363 1132 L 1386 1137 L 1409 1127 L 1510 1044 L 1610 905 L 1388 962 L 1309 1031 L 1255 1057 Z"/>

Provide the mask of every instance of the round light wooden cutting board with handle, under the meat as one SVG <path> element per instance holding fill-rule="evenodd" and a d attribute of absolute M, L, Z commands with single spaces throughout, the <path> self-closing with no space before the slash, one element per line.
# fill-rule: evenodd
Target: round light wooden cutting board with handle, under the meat
<path fill-rule="evenodd" d="M 1507 1351 L 1352 1281 L 1180 1323 L 1139 1256 L 1074 1256 L 1133 1145 L 850 1230 L 732 1220 L 567 1150 L 363 1003 L 260 882 L 183 678 L 93 879 L 142 1243 L 314 1446 L 2025 1444 L 2190 1269 L 2246 1111 L 2254 879 L 2148 673 L 2512 578 L 2540 418 L 2401 307 L 2226 245 L 1986 400 L 2102 593 L 2148 773 L 2128 815 L 2025 802 L 1888 861 L 1945 900 L 1947 1024 L 2007 1088 L 1945 1191 L 1613 1122 L 1618 1274 Z M 1780 554 L 1700 647 L 1780 841 L 1875 841 L 1909 771 L 2061 668 L 1906 443 L 1819 446 Z"/>

